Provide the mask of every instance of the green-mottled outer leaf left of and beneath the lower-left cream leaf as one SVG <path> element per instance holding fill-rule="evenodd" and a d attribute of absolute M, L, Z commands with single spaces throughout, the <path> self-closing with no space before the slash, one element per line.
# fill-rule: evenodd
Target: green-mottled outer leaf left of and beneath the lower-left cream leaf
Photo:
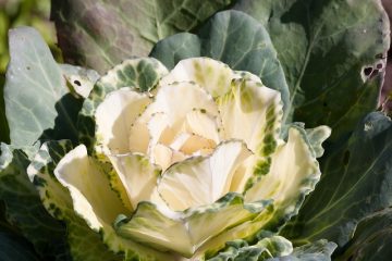
<path fill-rule="evenodd" d="M 101 241 L 100 235 L 93 232 L 86 222 L 76 215 L 69 192 L 53 175 L 57 163 L 71 149 L 72 144 L 69 140 L 44 144 L 28 166 L 29 177 L 49 213 L 66 222 L 68 241 L 75 261 L 97 260 L 97 257 L 102 260 L 123 260 L 110 252 Z"/>

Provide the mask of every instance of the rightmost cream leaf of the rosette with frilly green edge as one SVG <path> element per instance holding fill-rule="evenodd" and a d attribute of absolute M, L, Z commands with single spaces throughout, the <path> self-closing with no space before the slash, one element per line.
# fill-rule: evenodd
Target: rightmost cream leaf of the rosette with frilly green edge
<path fill-rule="evenodd" d="M 246 191 L 245 201 L 272 199 L 274 212 L 265 228 L 275 232 L 298 213 L 321 173 L 306 132 L 296 126 L 290 128 L 286 144 L 279 145 L 271 159 L 269 173 Z"/>

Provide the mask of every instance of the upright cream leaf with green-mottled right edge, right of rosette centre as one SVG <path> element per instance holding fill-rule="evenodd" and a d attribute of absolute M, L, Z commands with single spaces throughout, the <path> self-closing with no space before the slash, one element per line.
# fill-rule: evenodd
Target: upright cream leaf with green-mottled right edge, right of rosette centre
<path fill-rule="evenodd" d="M 217 99 L 224 138 L 244 140 L 255 153 L 244 171 L 235 174 L 234 191 L 249 189 L 270 171 L 283 114 L 280 98 L 278 91 L 260 83 L 236 79 L 231 89 Z"/>

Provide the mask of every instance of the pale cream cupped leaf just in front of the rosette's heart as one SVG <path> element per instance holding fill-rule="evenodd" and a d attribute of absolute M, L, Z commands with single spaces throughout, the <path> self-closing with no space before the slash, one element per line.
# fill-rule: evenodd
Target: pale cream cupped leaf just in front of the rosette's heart
<path fill-rule="evenodd" d="M 229 192 L 237 166 L 252 153 L 241 141 L 226 141 L 210 157 L 195 157 L 169 167 L 158 191 L 173 210 L 209 204 Z"/>

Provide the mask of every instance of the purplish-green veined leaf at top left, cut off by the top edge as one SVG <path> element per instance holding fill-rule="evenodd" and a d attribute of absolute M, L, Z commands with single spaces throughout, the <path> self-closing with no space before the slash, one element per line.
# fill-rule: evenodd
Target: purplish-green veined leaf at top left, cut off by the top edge
<path fill-rule="evenodd" d="M 102 73 L 146 57 L 167 36 L 198 27 L 234 0 L 52 0 L 59 45 L 68 62 Z"/>

